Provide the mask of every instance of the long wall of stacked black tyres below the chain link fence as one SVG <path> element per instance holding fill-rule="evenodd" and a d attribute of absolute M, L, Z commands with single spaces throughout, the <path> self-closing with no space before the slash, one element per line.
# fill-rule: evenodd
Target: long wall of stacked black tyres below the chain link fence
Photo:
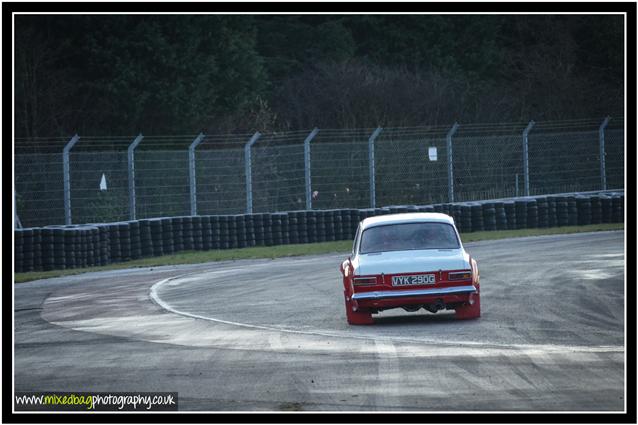
<path fill-rule="evenodd" d="M 460 233 L 621 223 L 624 202 L 623 192 L 581 193 L 503 201 L 160 217 L 24 228 L 14 231 L 14 266 L 18 273 L 62 270 L 185 250 L 352 240 L 361 220 L 406 212 L 451 215 Z"/>

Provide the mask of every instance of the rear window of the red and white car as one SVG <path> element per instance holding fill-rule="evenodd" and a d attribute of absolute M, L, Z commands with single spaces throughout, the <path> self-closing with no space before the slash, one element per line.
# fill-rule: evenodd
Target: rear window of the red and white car
<path fill-rule="evenodd" d="M 454 227 L 446 223 L 400 223 L 370 227 L 361 235 L 360 253 L 460 248 Z"/>

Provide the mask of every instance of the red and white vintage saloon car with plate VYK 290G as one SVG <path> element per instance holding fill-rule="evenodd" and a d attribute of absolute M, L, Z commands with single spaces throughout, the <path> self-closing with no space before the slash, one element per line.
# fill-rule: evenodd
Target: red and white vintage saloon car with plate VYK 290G
<path fill-rule="evenodd" d="M 476 260 L 446 214 L 366 218 L 340 271 L 351 325 L 372 324 L 373 313 L 397 307 L 455 310 L 459 319 L 481 315 Z"/>

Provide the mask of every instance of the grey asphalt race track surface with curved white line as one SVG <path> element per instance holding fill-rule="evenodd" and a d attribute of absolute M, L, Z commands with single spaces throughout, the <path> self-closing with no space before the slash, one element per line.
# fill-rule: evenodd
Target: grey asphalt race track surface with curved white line
<path fill-rule="evenodd" d="M 466 244 L 482 317 L 346 324 L 322 255 L 15 285 L 17 391 L 177 391 L 206 411 L 622 411 L 624 233 Z"/>

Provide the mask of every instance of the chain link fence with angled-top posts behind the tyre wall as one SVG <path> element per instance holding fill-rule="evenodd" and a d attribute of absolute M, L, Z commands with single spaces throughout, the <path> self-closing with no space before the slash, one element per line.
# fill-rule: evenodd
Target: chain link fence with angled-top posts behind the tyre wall
<path fill-rule="evenodd" d="M 71 141 L 15 140 L 23 227 L 624 188 L 619 117 Z"/>

